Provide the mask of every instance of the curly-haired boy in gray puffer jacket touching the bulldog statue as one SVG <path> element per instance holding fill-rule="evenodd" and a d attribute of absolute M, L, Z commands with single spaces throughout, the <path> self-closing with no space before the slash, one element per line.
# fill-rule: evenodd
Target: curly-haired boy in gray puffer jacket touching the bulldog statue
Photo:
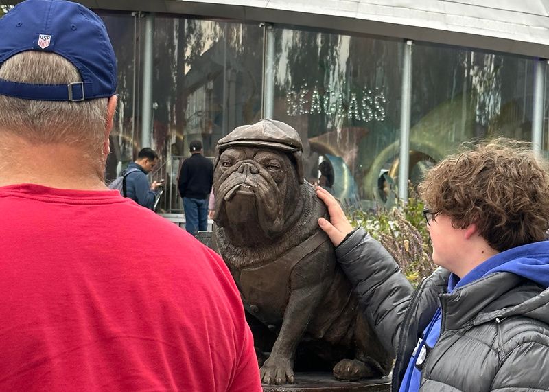
<path fill-rule="evenodd" d="M 549 389 L 549 165 L 498 139 L 447 157 L 421 183 L 433 261 L 414 291 L 379 242 L 324 189 L 336 247 L 397 358 L 393 391 Z"/>

